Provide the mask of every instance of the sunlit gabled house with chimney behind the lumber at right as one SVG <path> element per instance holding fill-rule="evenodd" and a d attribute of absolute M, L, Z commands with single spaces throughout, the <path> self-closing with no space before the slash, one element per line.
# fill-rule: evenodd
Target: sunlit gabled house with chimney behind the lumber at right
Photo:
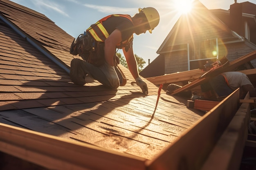
<path fill-rule="evenodd" d="M 250 2 L 235 2 L 229 10 L 209 10 L 195 0 L 190 13 L 180 16 L 157 50 L 158 57 L 164 60 L 158 65 L 153 61 L 140 75 L 154 77 L 189 71 L 223 57 L 231 62 L 256 50 L 255 15 L 256 4 Z M 255 67 L 255 60 L 246 66 Z M 158 68 L 164 68 L 163 72 L 159 73 Z"/>

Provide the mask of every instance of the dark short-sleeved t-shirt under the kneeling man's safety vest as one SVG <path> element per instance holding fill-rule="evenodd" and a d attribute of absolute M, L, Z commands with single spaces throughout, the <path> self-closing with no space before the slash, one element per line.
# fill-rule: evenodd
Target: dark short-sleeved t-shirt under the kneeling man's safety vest
<path fill-rule="evenodd" d="M 109 35 L 115 30 L 118 29 L 121 31 L 122 41 L 130 38 L 134 32 L 133 23 L 125 17 L 116 17 L 112 16 L 106 21 L 102 22 L 105 29 L 108 31 Z"/>

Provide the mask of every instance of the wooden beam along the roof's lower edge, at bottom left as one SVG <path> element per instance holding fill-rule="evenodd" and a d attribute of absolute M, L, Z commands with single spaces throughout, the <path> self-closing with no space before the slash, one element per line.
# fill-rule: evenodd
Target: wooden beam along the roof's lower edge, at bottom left
<path fill-rule="evenodd" d="M 54 170 L 144 170 L 146 160 L 2 123 L 0 151 Z"/>

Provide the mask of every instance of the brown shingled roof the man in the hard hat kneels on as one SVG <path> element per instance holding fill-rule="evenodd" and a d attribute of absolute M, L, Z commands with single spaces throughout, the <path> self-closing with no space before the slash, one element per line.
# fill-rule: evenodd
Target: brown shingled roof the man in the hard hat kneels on
<path fill-rule="evenodd" d="M 0 122 L 152 159 L 200 119 L 186 99 L 148 84 L 143 95 L 128 69 L 117 90 L 69 77 L 73 37 L 45 15 L 0 1 Z"/>

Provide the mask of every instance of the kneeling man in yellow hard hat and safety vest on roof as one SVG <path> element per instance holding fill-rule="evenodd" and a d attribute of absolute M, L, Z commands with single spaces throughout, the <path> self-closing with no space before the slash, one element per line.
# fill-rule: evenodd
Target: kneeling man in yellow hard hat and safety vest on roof
<path fill-rule="evenodd" d="M 116 49 L 122 49 L 130 73 L 142 92 L 148 94 L 147 84 L 139 77 L 137 62 L 132 49 L 133 33 L 139 35 L 152 30 L 159 23 L 155 8 L 139 8 L 139 13 L 130 15 L 113 14 L 92 24 L 70 47 L 70 53 L 79 54 L 83 60 L 71 61 L 70 78 L 75 84 L 84 85 L 85 75 L 98 80 L 109 88 L 124 86 L 117 64 Z M 125 82 L 124 82 L 125 81 Z"/>

